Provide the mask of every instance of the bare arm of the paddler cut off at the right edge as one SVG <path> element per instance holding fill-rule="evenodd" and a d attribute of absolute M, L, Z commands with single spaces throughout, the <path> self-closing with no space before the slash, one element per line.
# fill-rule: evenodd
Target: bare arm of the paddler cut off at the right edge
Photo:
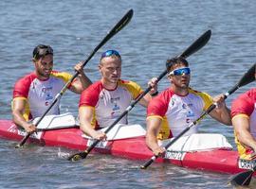
<path fill-rule="evenodd" d="M 234 116 L 232 124 L 239 142 L 245 146 L 250 146 L 256 152 L 256 140 L 250 134 L 249 118 L 247 116 Z"/>

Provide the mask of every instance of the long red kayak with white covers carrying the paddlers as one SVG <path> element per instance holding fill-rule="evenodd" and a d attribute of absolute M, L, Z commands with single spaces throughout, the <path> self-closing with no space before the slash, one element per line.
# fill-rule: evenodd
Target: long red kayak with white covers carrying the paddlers
<path fill-rule="evenodd" d="M 108 135 L 108 141 L 101 142 L 92 152 L 111 154 L 113 156 L 143 162 L 149 160 L 153 156 L 153 153 L 145 144 L 145 130 L 138 126 L 139 125 L 113 128 L 114 131 L 110 133 L 111 136 Z M 25 135 L 26 132 L 18 129 L 11 120 L 0 120 L 1 138 L 21 141 Z M 40 137 L 32 134 L 27 140 L 27 143 L 43 146 L 63 146 L 76 150 L 84 150 L 93 143 L 92 139 L 84 136 L 81 129 L 70 128 L 68 126 L 63 129 L 38 132 L 37 135 L 40 135 Z M 203 143 L 202 141 L 198 142 L 198 138 L 200 138 L 198 136 L 200 135 L 197 134 L 193 137 L 194 139 L 192 139 L 192 143 L 190 143 L 189 146 L 183 145 L 180 147 L 178 145 L 179 140 L 177 140 L 177 145 L 172 149 L 168 148 L 165 157 L 158 158 L 155 162 L 171 163 L 192 169 L 229 174 L 243 172 L 245 169 L 250 169 L 254 166 L 255 162 L 239 159 L 238 152 L 232 150 L 229 144 L 227 146 L 227 142 L 223 142 L 223 140 L 226 139 L 224 136 L 208 134 L 201 137 Z M 220 140 L 217 140 L 213 147 L 205 148 L 204 145 L 207 144 L 206 142 L 208 141 L 210 144 L 210 141 L 218 138 L 216 136 L 221 136 L 219 137 Z M 185 137 L 184 140 L 187 143 L 191 138 L 188 139 Z M 182 140 L 180 143 L 183 143 Z M 203 144 L 203 147 L 196 148 L 196 146 L 200 146 L 198 145 L 199 143 Z"/>

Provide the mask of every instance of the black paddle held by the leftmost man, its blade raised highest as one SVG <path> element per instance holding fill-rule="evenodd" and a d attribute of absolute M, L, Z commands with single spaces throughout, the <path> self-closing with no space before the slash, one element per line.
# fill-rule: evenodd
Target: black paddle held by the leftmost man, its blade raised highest
<path fill-rule="evenodd" d="M 106 43 L 107 41 L 109 41 L 114 35 L 116 35 L 124 26 L 126 26 L 132 19 L 134 14 L 134 10 L 130 9 L 123 17 L 122 19 L 119 20 L 119 23 L 114 26 L 105 36 L 105 38 L 101 41 L 101 43 L 98 44 L 98 46 L 96 46 L 96 48 L 91 52 L 91 54 L 89 55 L 89 57 L 87 58 L 87 60 L 85 60 L 82 63 L 82 67 L 84 67 L 87 62 L 89 60 L 91 60 L 91 58 L 94 56 L 94 54 L 101 48 L 102 45 L 104 45 L 104 43 Z M 70 78 L 70 80 L 64 85 L 64 88 L 62 89 L 62 91 L 57 94 L 54 98 L 54 101 L 51 103 L 51 105 L 48 107 L 48 109 L 46 110 L 46 112 L 42 115 L 42 117 L 35 123 L 35 126 L 37 127 L 38 124 L 44 119 L 44 117 L 46 116 L 47 112 L 50 111 L 50 109 L 56 104 L 56 102 L 62 97 L 62 95 L 64 94 L 64 92 L 66 91 L 66 89 L 68 88 L 68 86 L 72 83 L 72 81 L 78 77 L 79 73 L 76 72 L 76 74 Z M 30 136 L 31 133 L 27 133 L 27 135 L 22 139 L 22 141 L 15 147 L 20 147 L 23 146 L 28 137 Z"/>

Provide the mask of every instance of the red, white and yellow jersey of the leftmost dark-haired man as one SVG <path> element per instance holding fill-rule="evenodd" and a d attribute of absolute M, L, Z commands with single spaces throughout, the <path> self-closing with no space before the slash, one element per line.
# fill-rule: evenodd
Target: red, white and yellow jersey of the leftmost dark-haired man
<path fill-rule="evenodd" d="M 68 73 L 52 71 L 48 79 L 40 80 L 35 73 L 30 73 L 15 83 L 13 100 L 26 100 L 23 114 L 26 120 L 40 117 L 71 77 Z M 60 101 L 47 114 L 60 114 L 59 105 Z"/>

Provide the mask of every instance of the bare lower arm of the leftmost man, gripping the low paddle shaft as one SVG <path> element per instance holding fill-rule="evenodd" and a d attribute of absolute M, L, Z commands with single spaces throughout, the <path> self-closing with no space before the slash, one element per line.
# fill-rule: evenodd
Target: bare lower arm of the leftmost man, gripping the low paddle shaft
<path fill-rule="evenodd" d="M 13 122 L 26 129 L 27 132 L 32 132 L 36 128 L 32 124 L 28 124 L 27 121 L 25 120 L 23 114 L 25 112 L 26 108 L 26 99 L 14 99 L 13 100 L 13 108 L 12 108 L 12 117 L 13 117 Z"/>

